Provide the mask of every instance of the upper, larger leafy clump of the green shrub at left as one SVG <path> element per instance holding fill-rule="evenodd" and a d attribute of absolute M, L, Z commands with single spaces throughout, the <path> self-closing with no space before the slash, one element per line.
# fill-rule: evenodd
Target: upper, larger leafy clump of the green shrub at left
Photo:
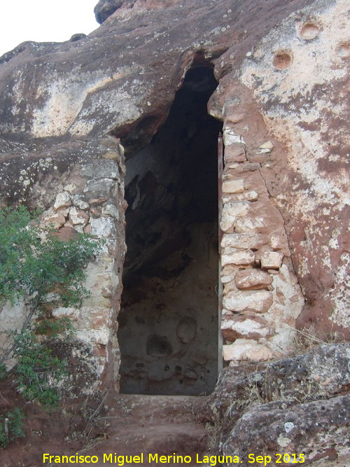
<path fill-rule="evenodd" d="M 55 291 L 63 306 L 79 305 L 88 295 L 83 268 L 101 242 L 83 234 L 61 242 L 50 232 L 42 241 L 30 222 L 25 207 L 0 211 L 0 301 L 15 302 L 25 295 L 38 308 Z"/>

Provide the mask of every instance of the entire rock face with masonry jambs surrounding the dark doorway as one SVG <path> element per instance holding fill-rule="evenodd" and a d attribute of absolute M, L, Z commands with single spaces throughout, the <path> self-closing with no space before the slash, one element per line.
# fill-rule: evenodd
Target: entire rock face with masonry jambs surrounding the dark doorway
<path fill-rule="evenodd" d="M 226 146 L 225 359 L 280 356 L 295 326 L 349 337 L 349 6 L 345 0 L 154 6 L 126 2 L 90 36 L 24 43 L 1 57 L 1 202 L 38 204 L 66 232 L 85 228 L 116 240 L 97 272 L 100 279 L 106 274 L 106 288 L 101 282 L 95 288 L 103 298 L 86 307 L 116 306 L 106 308 L 98 333 L 84 331 L 112 363 L 104 352 L 118 354 L 109 322 L 116 326 L 125 253 L 123 162 L 119 179 L 110 167 L 96 180 L 99 165 L 92 161 L 113 151 L 103 152 L 101 138 L 120 138 L 127 158 L 144 148 L 165 122 L 186 71 L 214 65 L 219 84 L 209 112 L 223 121 Z M 77 174 L 83 160 L 89 169 Z M 80 198 L 88 208 L 74 201 Z M 119 284 L 109 298 L 103 294 L 116 284 L 111 265 Z M 92 310 L 85 311 L 78 321 L 94 329 Z"/>

